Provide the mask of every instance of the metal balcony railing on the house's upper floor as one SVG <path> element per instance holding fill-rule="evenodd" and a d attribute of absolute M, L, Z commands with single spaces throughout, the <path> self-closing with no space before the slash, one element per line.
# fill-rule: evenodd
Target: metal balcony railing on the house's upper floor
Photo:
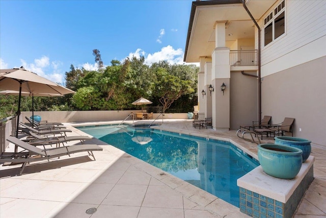
<path fill-rule="evenodd" d="M 258 65 L 257 50 L 231 50 L 230 65 L 231 66 L 257 66 Z"/>

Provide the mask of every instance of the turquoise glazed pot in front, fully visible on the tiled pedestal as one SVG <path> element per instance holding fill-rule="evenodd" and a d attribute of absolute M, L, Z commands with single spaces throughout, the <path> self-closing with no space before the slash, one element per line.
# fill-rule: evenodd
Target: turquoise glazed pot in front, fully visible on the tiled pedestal
<path fill-rule="evenodd" d="M 281 144 L 258 144 L 258 160 L 269 176 L 293 179 L 302 166 L 302 150 Z"/>

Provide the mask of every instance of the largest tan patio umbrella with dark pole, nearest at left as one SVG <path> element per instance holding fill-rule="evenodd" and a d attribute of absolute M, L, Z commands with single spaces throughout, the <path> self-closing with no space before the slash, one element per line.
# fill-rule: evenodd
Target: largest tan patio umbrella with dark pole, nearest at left
<path fill-rule="evenodd" d="M 0 90 L 19 91 L 16 137 L 18 137 L 21 92 L 61 95 L 74 93 L 74 91 L 40 77 L 22 66 L 13 69 L 0 69 Z"/>

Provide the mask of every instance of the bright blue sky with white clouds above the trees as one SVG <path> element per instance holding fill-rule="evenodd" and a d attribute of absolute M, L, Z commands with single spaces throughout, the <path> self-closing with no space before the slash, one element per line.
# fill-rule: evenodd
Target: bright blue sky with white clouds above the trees
<path fill-rule="evenodd" d="M 133 55 L 183 63 L 192 1 L 0 0 L 0 68 L 24 66 L 64 83 L 74 67 L 97 69 Z"/>

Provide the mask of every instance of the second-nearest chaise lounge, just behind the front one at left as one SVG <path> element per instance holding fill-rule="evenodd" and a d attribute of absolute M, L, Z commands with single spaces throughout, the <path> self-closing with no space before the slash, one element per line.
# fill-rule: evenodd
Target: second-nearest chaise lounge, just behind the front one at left
<path fill-rule="evenodd" d="M 29 129 L 23 129 L 22 130 L 24 133 L 28 134 L 27 139 L 24 141 L 27 141 L 29 144 L 32 144 L 33 146 L 45 146 L 47 144 L 56 144 L 56 146 L 60 147 L 60 143 L 62 143 L 63 146 L 65 142 L 68 141 L 77 141 L 79 140 L 84 144 L 85 140 L 92 139 L 88 136 L 58 136 L 58 137 L 46 137 L 42 135 L 38 135 L 34 132 L 31 132 Z"/>

